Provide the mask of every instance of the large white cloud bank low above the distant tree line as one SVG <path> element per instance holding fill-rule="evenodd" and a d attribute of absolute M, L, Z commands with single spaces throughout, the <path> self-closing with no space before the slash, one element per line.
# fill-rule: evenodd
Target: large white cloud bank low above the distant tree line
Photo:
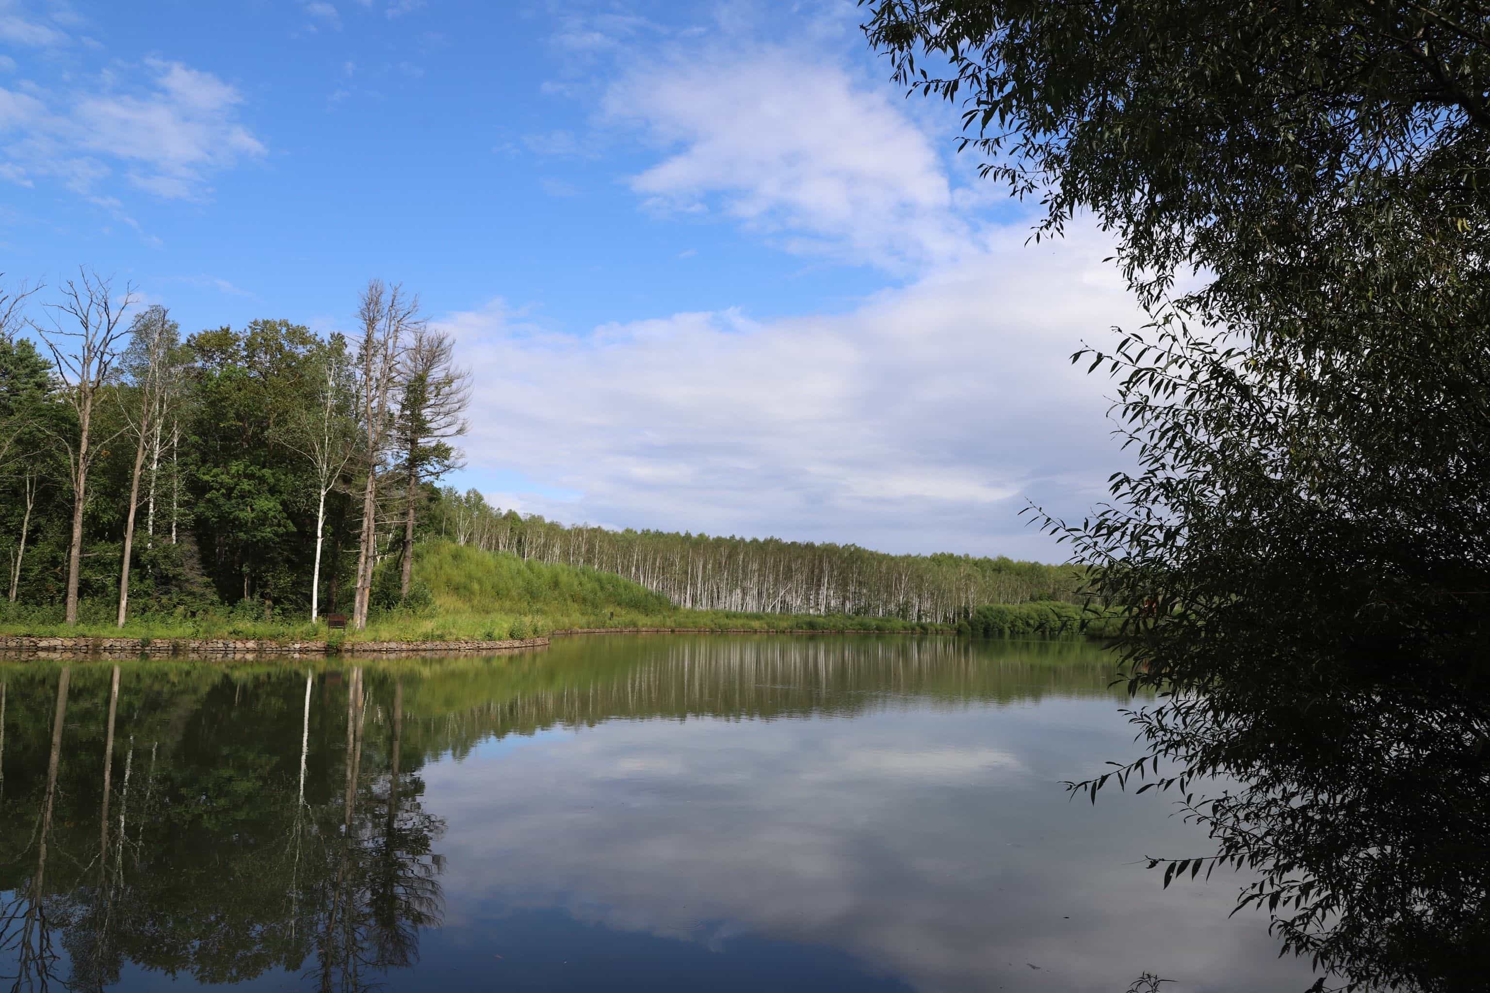
<path fill-rule="evenodd" d="M 1064 551 L 1024 499 L 1080 514 L 1116 459 L 1083 336 L 1132 316 L 1089 232 L 974 258 L 825 317 L 673 314 L 563 335 L 498 302 L 440 322 L 477 372 L 471 469 L 575 500 L 563 521 L 855 542 Z"/>

